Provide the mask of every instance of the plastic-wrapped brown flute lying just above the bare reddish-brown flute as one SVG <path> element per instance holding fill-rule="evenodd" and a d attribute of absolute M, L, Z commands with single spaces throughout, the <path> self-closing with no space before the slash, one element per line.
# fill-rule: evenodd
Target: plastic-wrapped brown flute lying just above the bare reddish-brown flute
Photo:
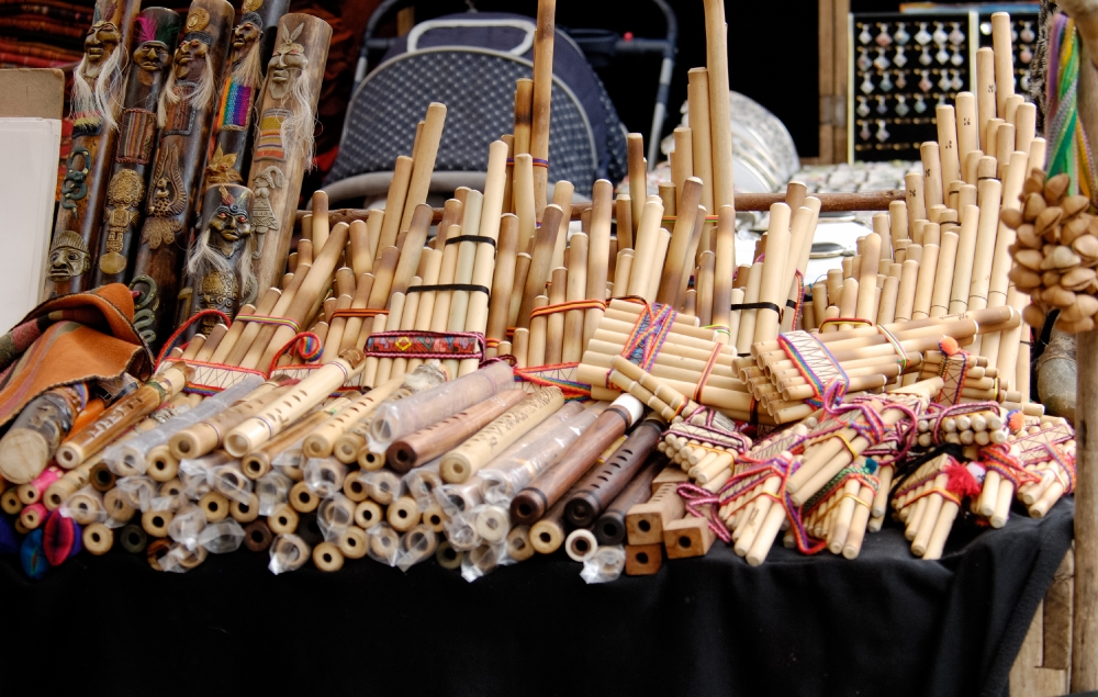
<path fill-rule="evenodd" d="M 502 390 L 515 386 L 511 366 L 501 361 L 419 394 L 384 402 L 373 413 L 367 442 L 371 451 L 384 452 L 397 438 L 437 424 Z"/>

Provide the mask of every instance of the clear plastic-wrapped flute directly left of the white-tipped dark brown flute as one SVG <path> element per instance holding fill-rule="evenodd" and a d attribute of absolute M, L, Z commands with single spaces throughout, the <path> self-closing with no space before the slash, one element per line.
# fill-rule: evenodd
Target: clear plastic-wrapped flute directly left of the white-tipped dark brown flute
<path fill-rule="evenodd" d="M 534 442 L 519 448 L 511 457 L 493 460 L 477 473 L 484 482 L 481 486 L 483 499 L 500 506 L 511 506 L 511 499 L 515 494 L 528 486 L 538 474 L 552 466 L 561 453 L 575 442 L 596 418 L 598 412 L 584 409 Z"/>

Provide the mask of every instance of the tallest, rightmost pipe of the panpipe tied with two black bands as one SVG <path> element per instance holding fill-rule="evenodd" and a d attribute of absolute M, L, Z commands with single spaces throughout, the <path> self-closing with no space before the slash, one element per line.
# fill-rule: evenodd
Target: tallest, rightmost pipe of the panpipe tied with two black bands
<path fill-rule="evenodd" d="M 488 160 L 488 178 L 485 179 L 484 198 L 481 203 L 480 229 L 477 234 L 492 241 L 477 243 L 471 280 L 473 285 L 485 289 L 493 286 L 496 276 L 496 249 L 500 241 L 501 216 L 504 210 L 504 190 L 506 188 L 507 144 L 503 140 L 492 143 L 489 146 Z M 567 225 L 567 222 L 563 224 Z M 489 317 L 491 315 L 489 308 L 490 300 L 486 293 L 472 293 L 469 299 L 468 308 L 466 310 L 464 326 L 462 327 L 466 331 L 486 335 Z M 458 375 L 467 375 L 477 370 L 478 363 L 477 359 L 462 360 L 458 367 Z"/>

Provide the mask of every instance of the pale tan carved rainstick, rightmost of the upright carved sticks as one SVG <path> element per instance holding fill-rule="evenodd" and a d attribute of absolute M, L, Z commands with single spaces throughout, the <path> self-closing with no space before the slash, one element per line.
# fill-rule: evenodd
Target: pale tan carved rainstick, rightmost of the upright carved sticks
<path fill-rule="evenodd" d="M 257 288 L 278 285 L 293 235 L 301 179 L 313 165 L 313 127 L 332 27 L 307 14 L 279 22 L 259 109 L 248 188 Z"/>

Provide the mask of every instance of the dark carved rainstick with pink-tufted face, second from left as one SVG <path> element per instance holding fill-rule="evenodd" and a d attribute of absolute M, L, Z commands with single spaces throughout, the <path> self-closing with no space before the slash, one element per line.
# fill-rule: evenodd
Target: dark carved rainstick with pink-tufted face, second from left
<path fill-rule="evenodd" d="M 165 8 L 148 8 L 134 20 L 136 47 L 119 119 L 92 285 L 130 281 L 134 234 L 141 228 L 156 151 L 156 102 L 182 24 L 178 12 Z"/>

